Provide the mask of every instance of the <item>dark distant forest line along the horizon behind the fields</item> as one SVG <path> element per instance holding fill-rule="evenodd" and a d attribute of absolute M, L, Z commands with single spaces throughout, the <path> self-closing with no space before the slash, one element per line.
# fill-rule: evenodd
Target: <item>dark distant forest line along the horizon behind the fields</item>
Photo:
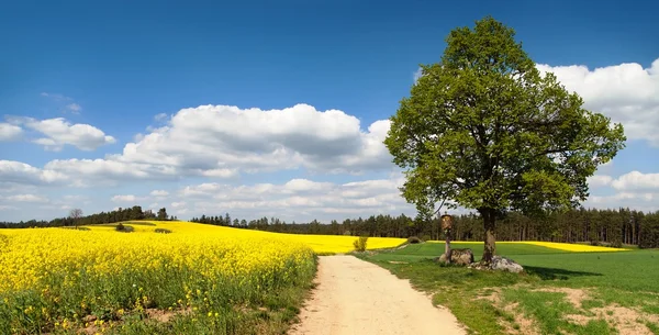
<path fill-rule="evenodd" d="M 142 206 L 135 205 L 78 219 L 67 216 L 52 221 L 0 222 L 0 228 L 74 226 L 130 220 L 177 220 L 177 217 L 169 217 L 165 208 L 160 209 L 158 213 L 153 213 L 152 211 L 143 211 Z M 192 217 L 191 221 L 211 225 L 291 234 L 444 238 L 439 228 L 439 219 L 427 221 L 404 214 L 399 216 L 371 215 L 367 219 L 346 219 L 343 222 L 332 221 L 330 224 L 322 224 L 317 220 L 309 223 L 287 223 L 277 217 L 246 221 L 244 219 L 232 219 L 228 213 L 224 215 L 201 215 L 200 217 Z M 480 215 L 455 215 L 454 226 L 454 239 L 482 241 L 483 224 Z M 498 241 L 587 242 L 593 245 L 610 246 L 630 244 L 643 248 L 654 248 L 659 247 L 659 211 L 644 213 L 629 209 L 596 210 L 581 208 L 562 213 L 545 213 L 541 217 L 529 217 L 517 212 L 510 212 L 500 219 L 496 227 L 496 238 Z"/>

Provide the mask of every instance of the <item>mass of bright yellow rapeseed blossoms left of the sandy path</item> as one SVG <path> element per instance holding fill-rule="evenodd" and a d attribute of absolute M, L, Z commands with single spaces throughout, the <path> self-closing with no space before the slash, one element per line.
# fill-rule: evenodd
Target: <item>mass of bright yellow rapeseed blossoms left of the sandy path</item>
<path fill-rule="evenodd" d="M 2 230 L 0 297 L 5 304 L 16 303 L 19 311 L 25 314 L 34 313 L 34 308 L 12 297 L 16 297 L 14 292 L 27 289 L 41 293 L 53 305 L 87 312 L 92 305 L 112 305 L 113 302 L 99 294 L 85 297 L 70 305 L 69 297 L 58 294 L 74 290 L 82 281 L 105 283 L 105 279 L 124 276 L 126 271 L 169 278 L 168 273 L 186 270 L 191 275 L 177 279 L 180 283 L 176 284 L 183 290 L 177 292 L 180 294 L 176 298 L 178 304 L 171 309 L 190 306 L 205 310 L 213 305 L 213 298 L 217 290 L 223 290 L 226 279 L 231 279 L 232 286 L 258 290 L 287 284 L 297 280 L 301 269 L 311 271 L 314 252 L 349 252 L 356 238 L 275 234 L 190 222 L 154 221 L 132 226 L 134 232 L 130 234 L 118 233 L 109 225 L 92 225 L 89 231 L 62 227 Z M 171 234 L 157 234 L 155 228 L 167 228 Z M 368 247 L 393 247 L 403 242 L 402 238 L 371 237 Z M 156 298 L 152 295 L 150 288 L 137 279 L 126 280 L 122 284 L 132 292 L 138 291 L 139 297 L 133 295 L 136 301 L 116 306 L 116 314 L 123 315 L 124 309 L 143 311 L 150 308 L 149 302 Z M 42 310 L 42 313 L 51 322 L 64 316 L 52 306 Z M 220 316 L 215 312 L 209 313 L 209 316 Z M 77 313 L 74 315 L 74 320 L 80 317 Z M 97 321 L 99 323 L 102 324 Z M 58 321 L 56 325 L 64 328 L 71 326 L 68 320 Z"/>

